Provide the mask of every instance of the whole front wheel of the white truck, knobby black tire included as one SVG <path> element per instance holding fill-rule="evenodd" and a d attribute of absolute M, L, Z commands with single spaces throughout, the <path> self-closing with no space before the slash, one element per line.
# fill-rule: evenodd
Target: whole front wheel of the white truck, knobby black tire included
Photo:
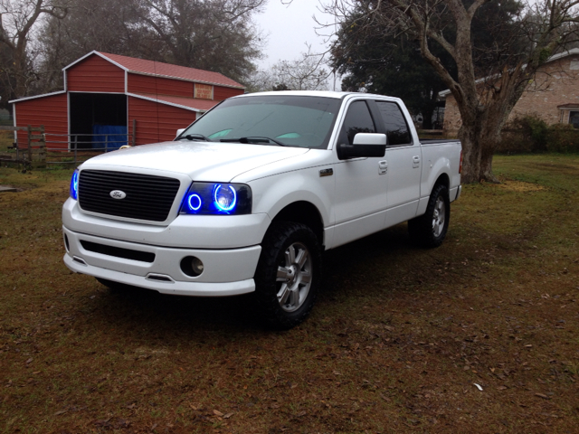
<path fill-rule="evenodd" d="M 271 224 L 255 272 L 255 301 L 268 325 L 289 329 L 306 319 L 318 295 L 321 260 L 318 238 L 308 226 Z"/>

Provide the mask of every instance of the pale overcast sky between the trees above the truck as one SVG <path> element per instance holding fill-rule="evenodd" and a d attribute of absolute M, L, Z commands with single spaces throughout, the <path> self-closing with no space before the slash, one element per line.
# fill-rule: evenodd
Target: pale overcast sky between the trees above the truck
<path fill-rule="evenodd" d="M 331 15 L 318 10 L 318 0 L 293 0 L 291 5 L 282 5 L 281 0 L 270 0 L 263 14 L 255 17 L 255 22 L 267 42 L 263 53 L 267 56 L 258 61 L 261 69 L 267 69 L 278 61 L 292 61 L 299 58 L 301 52 L 307 52 L 306 42 L 311 44 L 312 52 L 325 52 L 325 39 L 316 34 L 318 24 L 312 16 L 315 14 L 322 23 L 333 23 Z M 320 30 L 320 33 L 328 33 Z"/>

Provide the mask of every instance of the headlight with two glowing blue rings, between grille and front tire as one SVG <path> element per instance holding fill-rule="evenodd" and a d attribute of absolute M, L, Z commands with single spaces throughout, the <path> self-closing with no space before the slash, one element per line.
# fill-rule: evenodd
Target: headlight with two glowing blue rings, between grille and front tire
<path fill-rule="evenodd" d="M 252 189 L 243 184 L 193 183 L 182 214 L 251 214 Z"/>

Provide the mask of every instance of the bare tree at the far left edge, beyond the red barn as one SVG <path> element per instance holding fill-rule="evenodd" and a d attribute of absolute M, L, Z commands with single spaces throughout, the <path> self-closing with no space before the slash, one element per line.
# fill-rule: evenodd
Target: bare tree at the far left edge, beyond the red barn
<path fill-rule="evenodd" d="M 8 68 L 8 73 L 14 76 L 11 98 L 26 95 L 31 81 L 36 80 L 27 50 L 31 33 L 43 14 L 57 18 L 66 15 L 66 4 L 57 2 L 58 0 L 0 0 L 0 42 L 8 48 L 13 61 L 12 68 Z"/>

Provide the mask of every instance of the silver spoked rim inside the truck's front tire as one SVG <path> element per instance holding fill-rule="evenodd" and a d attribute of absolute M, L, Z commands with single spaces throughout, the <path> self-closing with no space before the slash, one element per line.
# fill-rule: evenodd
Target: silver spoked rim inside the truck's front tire
<path fill-rule="evenodd" d="M 298 310 L 308 297 L 312 281 L 312 260 L 308 248 L 300 243 L 290 244 L 278 266 L 276 281 L 280 285 L 278 303 L 286 312 Z"/>

